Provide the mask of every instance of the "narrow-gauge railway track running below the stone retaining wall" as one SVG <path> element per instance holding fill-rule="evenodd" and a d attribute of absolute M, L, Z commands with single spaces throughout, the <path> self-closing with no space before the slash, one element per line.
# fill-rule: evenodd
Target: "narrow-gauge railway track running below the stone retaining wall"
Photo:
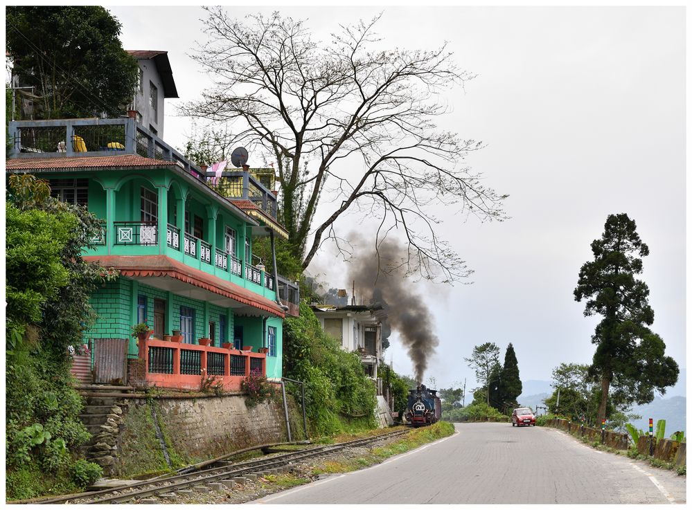
<path fill-rule="evenodd" d="M 168 478 L 157 478 L 155 480 L 144 480 L 114 489 L 64 495 L 35 502 L 35 504 L 124 503 L 140 500 L 147 496 L 175 495 L 177 491 L 181 490 L 218 491 L 224 488 L 232 488 L 236 483 L 242 484 L 247 480 L 255 480 L 257 477 L 269 473 L 285 472 L 290 469 L 291 464 L 300 462 L 303 459 L 326 455 L 344 448 L 363 446 L 376 441 L 382 441 L 382 439 L 391 439 L 392 437 L 404 435 L 407 432 L 409 430 L 396 430 L 364 439 L 315 446 L 314 448 L 305 448 L 296 452 L 275 455 L 274 457 L 251 459 L 233 464 L 230 462 L 219 462 L 215 466 L 203 471 L 195 471 L 194 473 Z M 206 489 L 200 489 L 200 487 L 206 487 Z"/>

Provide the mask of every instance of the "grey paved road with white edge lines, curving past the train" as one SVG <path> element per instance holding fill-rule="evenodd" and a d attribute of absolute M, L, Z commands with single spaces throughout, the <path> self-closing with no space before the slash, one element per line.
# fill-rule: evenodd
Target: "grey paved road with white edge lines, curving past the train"
<path fill-rule="evenodd" d="M 685 478 L 553 428 L 457 424 L 386 462 L 258 503 L 683 503 Z"/>

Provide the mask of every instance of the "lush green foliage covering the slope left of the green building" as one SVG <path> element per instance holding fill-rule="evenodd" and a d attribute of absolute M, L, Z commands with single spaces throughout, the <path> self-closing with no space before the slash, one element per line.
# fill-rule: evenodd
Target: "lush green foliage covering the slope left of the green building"
<path fill-rule="evenodd" d="M 94 215 L 49 196 L 33 176 L 10 176 L 6 203 L 6 454 L 8 497 L 46 486 L 81 489 L 78 448 L 89 439 L 79 419 L 68 347 L 77 349 L 93 319 L 89 293 L 104 271 L 82 259 L 100 231 Z M 82 462 L 83 464 L 83 462 Z M 97 473 L 98 466 L 91 466 Z M 100 472 L 100 471 L 98 471 Z M 27 473 L 40 473 L 40 475 Z M 46 482 L 50 480 L 50 482 Z M 88 482 L 89 480 L 87 480 Z"/>

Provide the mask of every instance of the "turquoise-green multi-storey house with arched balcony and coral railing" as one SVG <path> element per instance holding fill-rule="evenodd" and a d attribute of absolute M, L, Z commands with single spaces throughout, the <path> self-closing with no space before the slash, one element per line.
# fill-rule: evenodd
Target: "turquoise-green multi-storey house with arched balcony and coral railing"
<path fill-rule="evenodd" d="M 134 118 L 10 122 L 10 138 L 8 173 L 45 179 L 53 197 L 103 221 L 84 257 L 120 277 L 91 297 L 91 381 L 190 389 L 215 376 L 231 390 L 249 370 L 281 379 L 297 288 L 252 253 L 253 239 L 273 248 L 287 232 L 276 194 L 249 167 L 231 172 L 240 193 L 224 196 Z M 139 322 L 153 334 L 138 343 Z"/>

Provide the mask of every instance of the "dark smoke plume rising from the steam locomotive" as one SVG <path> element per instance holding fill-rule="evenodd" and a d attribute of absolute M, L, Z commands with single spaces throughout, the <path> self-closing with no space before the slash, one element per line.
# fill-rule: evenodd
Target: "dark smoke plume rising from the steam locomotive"
<path fill-rule="evenodd" d="M 355 236 L 357 237 L 357 236 Z M 355 282 L 357 304 L 382 304 L 382 340 L 396 329 L 414 364 L 414 376 L 423 382 L 430 357 L 439 344 L 433 333 L 432 315 L 425 304 L 427 293 L 407 277 L 409 252 L 387 238 L 377 247 L 358 242 L 357 258 L 351 262 L 348 284 Z M 361 250 L 362 246 L 372 246 Z"/>

